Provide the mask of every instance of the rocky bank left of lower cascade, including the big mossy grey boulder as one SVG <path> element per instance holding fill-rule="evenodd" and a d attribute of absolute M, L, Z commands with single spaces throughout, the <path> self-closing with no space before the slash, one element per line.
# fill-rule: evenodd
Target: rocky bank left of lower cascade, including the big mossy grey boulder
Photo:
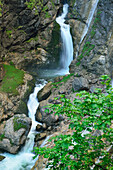
<path fill-rule="evenodd" d="M 32 86 L 32 76 L 25 74 L 24 84 L 17 89 L 18 95 L 0 91 L 0 151 L 15 154 L 26 141 L 31 127 L 31 119 L 27 117 L 27 100 Z"/>

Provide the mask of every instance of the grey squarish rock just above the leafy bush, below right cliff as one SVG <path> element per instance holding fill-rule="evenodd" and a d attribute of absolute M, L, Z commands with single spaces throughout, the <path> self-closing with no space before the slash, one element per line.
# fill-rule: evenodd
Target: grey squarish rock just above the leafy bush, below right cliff
<path fill-rule="evenodd" d="M 89 85 L 88 85 L 87 79 L 85 79 L 83 77 L 75 78 L 72 83 L 72 88 L 74 91 L 88 90 Z"/>

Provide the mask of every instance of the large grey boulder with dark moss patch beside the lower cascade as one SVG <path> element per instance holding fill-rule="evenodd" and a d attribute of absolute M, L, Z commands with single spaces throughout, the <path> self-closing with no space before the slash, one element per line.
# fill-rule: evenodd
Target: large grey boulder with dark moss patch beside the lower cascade
<path fill-rule="evenodd" d="M 31 127 L 31 119 L 24 114 L 8 119 L 1 130 L 0 149 L 16 154 L 25 143 Z"/>

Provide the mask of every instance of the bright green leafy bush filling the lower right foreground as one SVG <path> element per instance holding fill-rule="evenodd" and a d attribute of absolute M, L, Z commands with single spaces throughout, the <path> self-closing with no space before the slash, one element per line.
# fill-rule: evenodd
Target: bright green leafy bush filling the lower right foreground
<path fill-rule="evenodd" d="M 54 137 L 53 148 L 34 148 L 36 156 L 48 158 L 50 169 L 112 170 L 113 159 L 108 151 L 113 144 L 113 91 L 107 75 L 101 77 L 106 85 L 94 93 L 81 91 L 72 102 L 64 95 L 62 104 L 50 105 L 51 113 L 66 114 L 71 135 Z"/>

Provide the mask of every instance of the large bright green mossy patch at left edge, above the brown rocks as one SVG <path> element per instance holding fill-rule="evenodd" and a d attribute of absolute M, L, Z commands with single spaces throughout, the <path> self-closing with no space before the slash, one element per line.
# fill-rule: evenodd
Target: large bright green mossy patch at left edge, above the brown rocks
<path fill-rule="evenodd" d="M 24 71 L 16 69 L 12 65 L 3 65 L 5 76 L 2 80 L 0 91 L 17 95 L 17 87 L 23 84 Z"/>

